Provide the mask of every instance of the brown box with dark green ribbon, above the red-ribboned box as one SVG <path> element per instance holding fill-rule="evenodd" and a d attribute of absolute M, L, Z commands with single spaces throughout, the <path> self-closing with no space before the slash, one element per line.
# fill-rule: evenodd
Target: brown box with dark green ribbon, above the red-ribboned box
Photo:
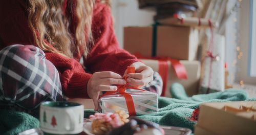
<path fill-rule="evenodd" d="M 190 27 L 158 26 L 156 49 L 153 49 L 153 27 L 125 27 L 124 49 L 142 56 L 170 57 L 195 60 L 198 49 L 198 30 Z"/>

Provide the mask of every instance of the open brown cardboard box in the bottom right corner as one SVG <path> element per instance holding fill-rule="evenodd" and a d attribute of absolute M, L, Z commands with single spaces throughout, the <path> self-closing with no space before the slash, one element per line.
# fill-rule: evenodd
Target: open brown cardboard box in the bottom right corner
<path fill-rule="evenodd" d="M 241 106 L 254 110 L 243 110 Z M 200 106 L 198 126 L 217 134 L 256 134 L 255 116 L 256 101 L 204 103 Z"/>

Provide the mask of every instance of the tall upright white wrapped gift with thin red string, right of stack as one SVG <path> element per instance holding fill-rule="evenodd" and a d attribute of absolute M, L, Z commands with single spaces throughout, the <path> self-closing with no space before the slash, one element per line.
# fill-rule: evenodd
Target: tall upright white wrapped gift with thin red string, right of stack
<path fill-rule="evenodd" d="M 211 93 L 216 91 L 224 91 L 225 87 L 225 69 L 224 69 L 224 54 L 225 54 L 225 37 L 214 34 L 214 42 L 212 46 L 212 55 L 215 58 L 207 56 L 207 51 L 210 43 L 210 35 L 205 40 L 203 46 L 202 70 L 201 70 L 201 88 L 200 94 Z M 209 89 L 208 89 L 209 87 Z"/>

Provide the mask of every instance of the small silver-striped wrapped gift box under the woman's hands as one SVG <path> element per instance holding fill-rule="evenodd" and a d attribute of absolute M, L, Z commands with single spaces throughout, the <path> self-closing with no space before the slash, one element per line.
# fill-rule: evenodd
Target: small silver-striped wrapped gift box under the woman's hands
<path fill-rule="evenodd" d="M 156 93 L 138 89 L 126 89 L 125 93 L 132 96 L 136 115 L 158 112 L 158 96 Z M 121 94 L 106 95 L 99 99 L 100 113 L 114 113 L 116 110 L 124 110 L 128 114 L 125 98 Z"/>

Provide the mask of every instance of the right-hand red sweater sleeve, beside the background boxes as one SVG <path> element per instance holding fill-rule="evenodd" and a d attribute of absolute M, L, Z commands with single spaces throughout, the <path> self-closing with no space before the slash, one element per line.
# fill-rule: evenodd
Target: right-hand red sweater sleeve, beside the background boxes
<path fill-rule="evenodd" d="M 138 61 L 134 55 L 119 48 L 109 6 L 100 3 L 95 5 L 92 32 L 94 45 L 84 59 L 85 66 L 92 73 L 113 71 L 123 75 L 128 65 Z"/>

